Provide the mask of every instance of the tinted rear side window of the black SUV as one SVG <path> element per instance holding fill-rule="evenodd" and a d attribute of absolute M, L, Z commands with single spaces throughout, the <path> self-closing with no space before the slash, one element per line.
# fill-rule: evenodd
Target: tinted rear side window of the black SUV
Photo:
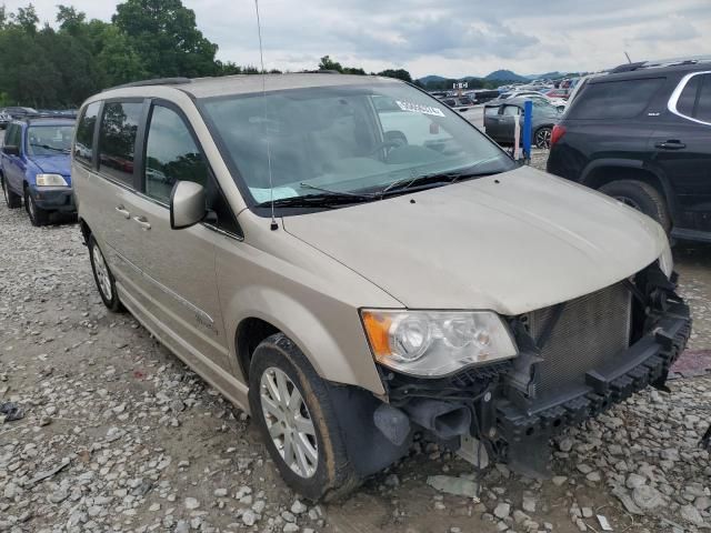
<path fill-rule="evenodd" d="M 647 109 L 664 78 L 588 83 L 575 99 L 570 119 L 631 119 Z"/>

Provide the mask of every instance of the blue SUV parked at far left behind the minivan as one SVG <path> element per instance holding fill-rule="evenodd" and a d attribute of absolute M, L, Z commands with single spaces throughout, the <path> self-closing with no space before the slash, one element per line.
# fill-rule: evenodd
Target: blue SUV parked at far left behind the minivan
<path fill-rule="evenodd" d="M 74 213 L 70 155 L 74 120 L 27 118 L 8 125 L 0 152 L 0 180 L 8 208 L 24 209 L 33 225 L 51 212 Z"/>

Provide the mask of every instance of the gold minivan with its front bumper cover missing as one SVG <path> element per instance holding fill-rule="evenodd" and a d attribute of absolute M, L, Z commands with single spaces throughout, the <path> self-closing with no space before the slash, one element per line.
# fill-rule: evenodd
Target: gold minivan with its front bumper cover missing
<path fill-rule="evenodd" d="M 82 105 L 72 158 L 106 305 L 251 413 L 312 500 L 415 432 L 544 475 L 552 434 L 662 386 L 690 333 L 654 221 L 398 80 L 123 86 Z"/>

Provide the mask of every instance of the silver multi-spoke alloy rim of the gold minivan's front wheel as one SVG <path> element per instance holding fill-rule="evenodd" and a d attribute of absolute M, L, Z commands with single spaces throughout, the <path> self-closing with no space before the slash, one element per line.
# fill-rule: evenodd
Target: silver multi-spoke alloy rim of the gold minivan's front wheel
<path fill-rule="evenodd" d="M 316 428 L 301 392 L 277 368 L 268 368 L 260 380 L 264 422 L 284 463 L 299 476 L 311 477 L 319 465 Z"/>

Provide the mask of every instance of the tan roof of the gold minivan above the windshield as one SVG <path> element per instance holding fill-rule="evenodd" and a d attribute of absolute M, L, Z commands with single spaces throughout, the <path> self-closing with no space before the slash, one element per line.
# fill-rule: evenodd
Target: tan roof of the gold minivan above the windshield
<path fill-rule="evenodd" d="M 262 91 L 264 83 L 267 91 L 286 89 L 304 89 L 309 87 L 357 86 L 372 83 L 397 83 L 399 80 L 378 76 L 352 76 L 338 73 L 286 73 L 286 74 L 234 74 L 218 78 L 167 78 L 144 80 L 127 83 L 107 91 L 117 91 L 136 87 L 174 87 L 194 98 L 212 98 L 229 94 L 249 94 Z M 104 91 L 104 92 L 107 92 Z"/>

